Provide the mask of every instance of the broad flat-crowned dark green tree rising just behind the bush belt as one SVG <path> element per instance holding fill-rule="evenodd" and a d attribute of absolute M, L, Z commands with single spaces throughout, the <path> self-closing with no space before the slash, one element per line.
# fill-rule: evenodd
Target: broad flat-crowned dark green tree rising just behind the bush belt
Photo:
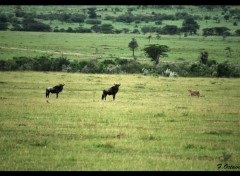
<path fill-rule="evenodd" d="M 159 63 L 160 57 L 167 57 L 166 52 L 170 51 L 168 46 L 159 44 L 147 45 L 143 50 L 147 57 L 150 57 L 156 65 Z"/>

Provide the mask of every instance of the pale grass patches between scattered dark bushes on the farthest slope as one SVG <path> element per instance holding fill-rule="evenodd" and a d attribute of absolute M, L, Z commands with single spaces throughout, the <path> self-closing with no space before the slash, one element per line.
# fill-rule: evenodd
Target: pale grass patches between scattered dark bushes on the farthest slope
<path fill-rule="evenodd" d="M 199 34 L 202 34 L 202 29 L 206 27 L 216 27 L 216 26 L 228 26 L 231 31 L 235 31 L 236 29 L 239 29 L 238 26 L 233 26 L 233 21 L 238 21 L 237 19 L 235 20 L 224 20 L 223 16 L 226 14 L 224 10 L 219 7 L 219 8 L 214 8 L 214 9 L 206 9 L 206 8 L 201 8 L 200 6 L 192 6 L 192 5 L 180 5 L 179 8 L 178 5 L 173 5 L 171 8 L 154 8 L 153 6 L 145 6 L 145 8 L 138 8 L 136 5 L 47 5 L 47 6 L 41 6 L 41 5 L 22 5 L 21 9 L 26 12 L 26 13 L 34 13 L 34 14 L 51 14 L 53 12 L 55 13 L 69 13 L 69 14 L 85 14 L 87 8 L 93 8 L 95 7 L 97 15 L 101 16 L 100 19 L 102 20 L 102 23 L 111 23 L 115 29 L 122 29 L 122 28 L 129 28 L 130 30 L 134 29 L 134 26 L 136 25 L 135 23 L 127 24 L 127 23 L 122 23 L 122 22 L 113 22 L 106 20 L 106 16 L 113 16 L 117 17 L 119 15 L 126 14 L 128 12 L 128 9 L 133 8 L 134 10 L 131 11 L 133 15 L 139 15 L 139 14 L 152 14 L 152 13 L 161 13 L 161 14 L 167 14 L 167 15 L 174 15 L 176 13 L 188 13 L 188 14 L 194 14 L 198 15 L 201 17 L 205 16 L 210 16 L 210 20 L 198 20 L 198 23 L 200 24 L 200 29 L 198 30 Z M 227 7 L 227 6 L 225 6 Z M 115 11 L 114 9 L 118 8 L 119 11 Z M 240 9 L 239 5 L 235 6 L 228 6 L 229 9 Z M 14 14 L 16 10 L 16 6 L 0 6 L 0 10 L 4 14 Z M 216 20 L 214 20 L 214 17 L 221 18 L 220 23 L 216 23 Z M 67 29 L 69 26 L 72 28 L 78 27 L 81 25 L 82 27 L 90 27 L 88 24 L 79 24 L 79 23 L 62 23 L 58 20 L 45 20 L 46 24 L 51 25 L 51 27 L 54 29 L 56 27 L 58 28 L 64 28 Z M 178 27 L 182 26 L 182 19 L 174 20 L 174 21 L 168 21 L 164 20 L 162 25 L 159 25 L 159 27 L 163 27 L 166 24 L 171 24 L 171 25 L 177 25 Z M 150 25 L 155 25 L 155 23 L 151 22 L 145 22 L 141 21 L 138 24 L 138 27 L 143 27 L 143 26 L 150 26 Z"/>

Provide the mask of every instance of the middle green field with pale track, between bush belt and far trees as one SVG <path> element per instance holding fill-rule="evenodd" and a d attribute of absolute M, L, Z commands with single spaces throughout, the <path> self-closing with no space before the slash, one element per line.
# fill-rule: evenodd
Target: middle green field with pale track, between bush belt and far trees
<path fill-rule="evenodd" d="M 42 55 L 61 56 L 68 59 L 89 60 L 97 58 L 132 58 L 128 43 L 135 37 L 139 47 L 135 56 L 140 62 L 150 62 L 143 48 L 148 44 L 167 45 L 168 57 L 163 61 L 198 61 L 199 54 L 205 50 L 209 60 L 239 63 L 239 37 L 189 36 L 179 37 L 163 35 L 160 40 L 149 40 L 143 34 L 81 34 L 53 32 L 13 32 L 0 31 L 0 60 L 13 57 L 38 57 Z M 233 52 L 227 57 L 226 47 Z"/>

